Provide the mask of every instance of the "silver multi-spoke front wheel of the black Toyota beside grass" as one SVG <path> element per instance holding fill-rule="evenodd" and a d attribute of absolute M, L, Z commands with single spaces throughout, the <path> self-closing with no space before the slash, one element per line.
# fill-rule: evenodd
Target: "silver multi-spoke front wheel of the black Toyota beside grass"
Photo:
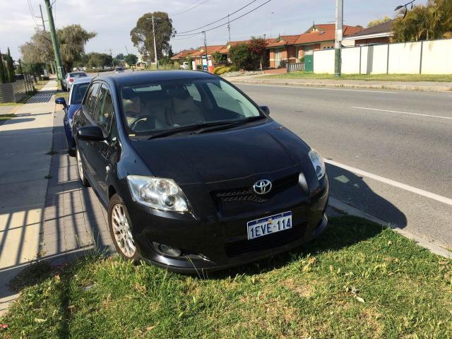
<path fill-rule="evenodd" d="M 114 194 L 109 201 L 108 229 L 117 252 L 126 260 L 138 261 L 140 254 L 133 239 L 132 222 L 118 194 Z"/>

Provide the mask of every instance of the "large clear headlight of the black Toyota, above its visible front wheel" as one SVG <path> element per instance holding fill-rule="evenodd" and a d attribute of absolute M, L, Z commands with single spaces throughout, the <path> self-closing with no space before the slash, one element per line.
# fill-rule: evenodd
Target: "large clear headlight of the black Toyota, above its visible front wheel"
<path fill-rule="evenodd" d="M 187 212 L 189 203 L 182 189 L 172 179 L 128 175 L 133 200 L 157 210 Z"/>

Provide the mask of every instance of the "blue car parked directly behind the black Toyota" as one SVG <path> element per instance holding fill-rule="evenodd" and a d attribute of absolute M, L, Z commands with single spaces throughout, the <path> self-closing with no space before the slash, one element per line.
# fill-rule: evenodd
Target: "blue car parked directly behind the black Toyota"
<path fill-rule="evenodd" d="M 71 87 L 68 102 L 66 103 L 64 97 L 58 97 L 55 100 L 56 104 L 64 106 L 64 133 L 66 134 L 68 154 L 71 155 L 71 157 L 76 156 L 76 142 L 74 141 L 72 135 L 73 114 L 80 108 L 83 97 L 85 96 L 86 89 L 88 88 L 88 85 L 90 84 L 92 79 L 92 76 L 76 78 Z"/>

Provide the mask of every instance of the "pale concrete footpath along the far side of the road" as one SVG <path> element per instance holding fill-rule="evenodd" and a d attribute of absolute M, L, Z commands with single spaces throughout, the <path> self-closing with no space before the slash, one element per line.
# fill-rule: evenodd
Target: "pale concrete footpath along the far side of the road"
<path fill-rule="evenodd" d="M 284 79 L 268 78 L 270 74 L 254 76 L 226 77 L 232 83 L 249 83 L 254 85 L 290 85 L 304 87 L 355 88 L 371 90 L 425 90 L 432 92 L 452 91 L 452 82 L 436 81 L 365 81 L 335 79 Z"/>

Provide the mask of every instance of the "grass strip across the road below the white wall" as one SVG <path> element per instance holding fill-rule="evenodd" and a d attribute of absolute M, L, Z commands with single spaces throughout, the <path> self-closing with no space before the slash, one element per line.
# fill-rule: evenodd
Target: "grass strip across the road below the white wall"
<path fill-rule="evenodd" d="M 304 72 L 292 72 L 284 74 L 273 74 L 265 76 L 265 78 L 280 79 L 335 79 L 333 74 L 314 74 Z M 452 82 L 452 74 L 436 75 L 436 74 L 343 74 L 340 76 L 343 80 L 367 80 L 367 81 L 441 81 Z"/>

